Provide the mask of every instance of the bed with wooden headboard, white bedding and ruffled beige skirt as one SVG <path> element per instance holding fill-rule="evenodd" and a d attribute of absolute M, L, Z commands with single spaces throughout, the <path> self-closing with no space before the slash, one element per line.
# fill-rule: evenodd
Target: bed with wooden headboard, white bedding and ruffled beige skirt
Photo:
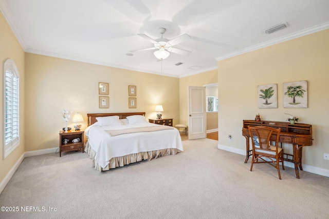
<path fill-rule="evenodd" d="M 145 112 L 89 113 L 85 151 L 104 171 L 184 151 L 179 131 L 147 122 Z"/>

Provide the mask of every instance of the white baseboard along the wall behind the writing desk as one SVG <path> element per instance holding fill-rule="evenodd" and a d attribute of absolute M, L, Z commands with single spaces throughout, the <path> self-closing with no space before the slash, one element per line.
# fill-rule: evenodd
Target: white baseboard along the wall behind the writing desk
<path fill-rule="evenodd" d="M 237 154 L 241 154 L 241 155 L 246 156 L 246 150 L 232 148 L 232 147 L 228 147 L 228 146 L 220 145 L 220 144 L 218 144 L 217 148 L 221 149 L 221 150 L 225 150 L 225 151 L 229 151 L 229 152 L 232 152 L 232 153 L 237 153 Z M 284 162 L 284 166 L 285 167 L 295 168 L 295 165 L 291 162 Z M 329 170 L 328 169 L 323 169 L 323 168 L 303 164 L 303 171 L 329 177 Z"/>

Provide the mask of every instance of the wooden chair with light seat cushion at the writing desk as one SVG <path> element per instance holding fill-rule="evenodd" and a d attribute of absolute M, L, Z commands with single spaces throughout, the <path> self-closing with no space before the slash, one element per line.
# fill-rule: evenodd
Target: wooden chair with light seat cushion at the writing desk
<path fill-rule="evenodd" d="M 266 126 L 248 126 L 249 133 L 252 142 L 252 161 L 250 171 L 252 171 L 252 165 L 258 163 L 267 163 L 278 170 L 279 179 L 280 175 L 280 161 L 283 166 L 283 149 L 279 147 L 279 137 L 281 128 L 275 129 Z M 272 141 L 271 139 L 272 135 Z M 271 145 L 271 142 L 275 142 L 275 146 Z M 261 160 L 261 161 L 259 161 Z"/>

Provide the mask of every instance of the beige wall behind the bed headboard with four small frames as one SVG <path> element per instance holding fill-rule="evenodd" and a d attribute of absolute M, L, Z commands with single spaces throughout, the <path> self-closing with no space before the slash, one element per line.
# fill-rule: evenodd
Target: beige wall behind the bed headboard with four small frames
<path fill-rule="evenodd" d="M 65 127 L 62 110 L 87 113 L 146 112 L 155 118 L 162 104 L 163 117 L 179 121 L 179 78 L 160 76 L 26 53 L 25 151 L 58 147 Z M 98 83 L 109 83 L 109 108 L 99 109 Z M 128 86 L 136 85 L 137 108 L 128 108 Z M 106 96 L 106 95 L 105 95 Z M 177 123 L 178 124 L 178 123 Z M 68 126 L 73 128 L 71 122 Z"/>

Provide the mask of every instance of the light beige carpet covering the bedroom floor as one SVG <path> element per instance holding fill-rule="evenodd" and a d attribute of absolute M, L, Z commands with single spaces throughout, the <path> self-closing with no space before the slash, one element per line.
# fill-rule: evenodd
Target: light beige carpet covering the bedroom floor
<path fill-rule="evenodd" d="M 1 218 L 327 218 L 329 177 L 256 164 L 207 138 L 98 172 L 86 153 L 27 157 L 0 194 Z M 21 207 L 45 207 L 22 212 Z M 56 208 L 50 212 L 49 207 Z"/>

